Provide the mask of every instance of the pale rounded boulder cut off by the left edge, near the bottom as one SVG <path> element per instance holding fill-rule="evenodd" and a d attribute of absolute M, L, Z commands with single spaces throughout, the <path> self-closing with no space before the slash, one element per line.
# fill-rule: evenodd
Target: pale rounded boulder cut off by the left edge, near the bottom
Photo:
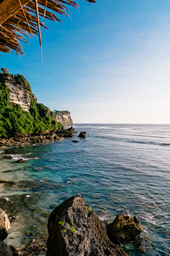
<path fill-rule="evenodd" d="M 7 238 L 9 229 L 10 229 L 10 222 L 8 220 L 8 216 L 6 215 L 4 210 L 0 208 L 0 239 L 2 241 Z"/>

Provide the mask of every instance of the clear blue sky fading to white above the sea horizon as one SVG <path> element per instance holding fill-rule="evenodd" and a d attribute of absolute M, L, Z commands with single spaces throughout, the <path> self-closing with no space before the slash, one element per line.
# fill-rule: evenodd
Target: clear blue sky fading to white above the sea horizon
<path fill-rule="evenodd" d="M 72 19 L 46 21 L 25 55 L 1 54 L 38 102 L 74 122 L 170 124 L 170 2 L 79 1 Z"/>

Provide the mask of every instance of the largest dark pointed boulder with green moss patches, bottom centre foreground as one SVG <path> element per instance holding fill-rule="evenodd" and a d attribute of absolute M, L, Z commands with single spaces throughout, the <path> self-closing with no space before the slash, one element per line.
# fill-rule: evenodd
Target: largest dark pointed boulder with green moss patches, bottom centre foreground
<path fill-rule="evenodd" d="M 46 256 L 128 256 L 108 239 L 98 216 L 79 195 L 52 211 L 48 232 Z"/>

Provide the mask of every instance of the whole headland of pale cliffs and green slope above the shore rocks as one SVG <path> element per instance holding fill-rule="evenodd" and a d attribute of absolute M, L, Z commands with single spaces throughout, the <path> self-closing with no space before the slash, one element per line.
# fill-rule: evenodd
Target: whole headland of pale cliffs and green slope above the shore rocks
<path fill-rule="evenodd" d="M 37 102 L 23 75 L 10 74 L 8 68 L 0 72 L 0 137 L 45 134 L 72 125 L 70 112 L 51 111 Z"/>

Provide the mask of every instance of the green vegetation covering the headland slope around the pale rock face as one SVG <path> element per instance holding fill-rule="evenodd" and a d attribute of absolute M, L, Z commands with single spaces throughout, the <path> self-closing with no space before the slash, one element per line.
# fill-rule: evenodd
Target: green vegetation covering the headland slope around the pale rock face
<path fill-rule="evenodd" d="M 1 71 L 3 70 L 1 69 Z M 2 83 L 2 75 L 16 78 L 18 83 L 27 85 L 31 92 L 30 84 L 23 75 L 13 76 L 8 73 L 0 73 L 0 137 L 2 135 L 11 137 L 15 132 L 32 134 L 63 128 L 62 124 L 51 116 L 49 108 L 42 103 L 35 102 L 32 97 L 30 112 L 24 111 L 20 105 L 11 104 L 10 90 L 6 84 Z"/>

